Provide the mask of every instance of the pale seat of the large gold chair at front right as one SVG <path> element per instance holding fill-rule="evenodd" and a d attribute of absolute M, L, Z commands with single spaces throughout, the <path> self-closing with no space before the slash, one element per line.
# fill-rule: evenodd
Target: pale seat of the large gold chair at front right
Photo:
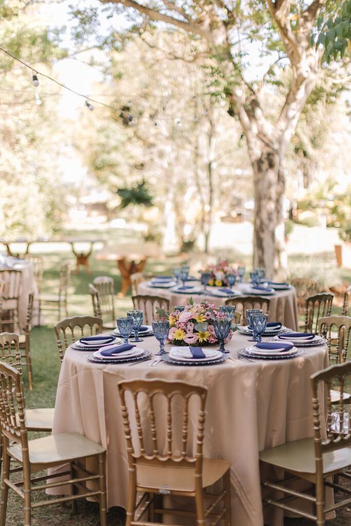
<path fill-rule="evenodd" d="M 265 449 L 259 453 L 262 462 L 273 464 L 287 471 L 316 473 L 314 438 L 304 438 Z M 351 466 L 351 448 L 330 451 L 323 455 L 324 473 Z"/>

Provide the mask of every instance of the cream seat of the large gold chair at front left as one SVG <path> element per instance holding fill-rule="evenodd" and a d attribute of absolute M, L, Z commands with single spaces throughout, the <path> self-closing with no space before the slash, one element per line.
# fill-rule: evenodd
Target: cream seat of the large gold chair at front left
<path fill-rule="evenodd" d="M 31 464 L 65 463 L 105 452 L 100 444 L 79 433 L 51 434 L 36 440 L 29 440 L 28 448 Z M 7 451 L 12 457 L 22 462 L 21 444 L 10 446 Z"/>

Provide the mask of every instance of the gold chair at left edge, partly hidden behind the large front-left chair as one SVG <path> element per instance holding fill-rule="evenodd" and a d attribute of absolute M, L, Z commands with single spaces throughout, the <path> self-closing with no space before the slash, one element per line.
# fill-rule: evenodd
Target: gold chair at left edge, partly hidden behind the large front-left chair
<path fill-rule="evenodd" d="M 18 370 L 21 375 L 21 386 L 24 397 L 23 367 L 26 366 L 26 356 L 21 354 L 18 340 L 17 334 L 12 334 L 11 332 L 3 332 L 0 334 L 0 359 Z M 54 408 L 26 409 L 26 427 L 28 431 L 51 432 L 53 419 Z"/>

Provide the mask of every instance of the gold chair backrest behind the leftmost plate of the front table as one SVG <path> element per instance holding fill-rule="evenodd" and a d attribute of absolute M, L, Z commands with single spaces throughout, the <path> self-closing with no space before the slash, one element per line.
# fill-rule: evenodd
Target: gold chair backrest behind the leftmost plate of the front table
<path fill-rule="evenodd" d="M 73 316 L 56 323 L 54 329 L 61 363 L 67 347 L 76 340 L 77 336 L 83 338 L 101 334 L 102 328 L 103 320 L 96 316 Z"/>

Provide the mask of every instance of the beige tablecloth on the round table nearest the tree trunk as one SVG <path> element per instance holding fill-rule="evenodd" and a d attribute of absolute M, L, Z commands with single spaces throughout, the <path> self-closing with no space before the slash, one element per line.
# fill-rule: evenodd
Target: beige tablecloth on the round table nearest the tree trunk
<path fill-rule="evenodd" d="M 188 285 L 200 286 L 199 282 L 194 281 L 189 281 Z M 238 283 L 233 286 L 233 289 L 240 291 L 243 296 L 250 296 L 249 294 L 244 293 L 244 290 L 247 288 L 249 288 L 248 283 Z M 211 287 L 207 287 L 207 290 L 210 289 Z M 173 307 L 176 305 L 187 305 L 190 297 L 192 296 L 191 294 L 179 294 L 179 292 L 165 288 L 150 287 L 148 285 L 148 281 L 143 281 L 137 286 L 137 293 L 146 296 L 162 296 L 163 298 L 167 298 L 169 299 L 170 309 L 173 309 Z M 219 305 L 224 305 L 228 297 L 218 298 L 216 296 L 205 294 L 194 294 L 193 300 L 196 302 L 207 300 L 218 307 Z M 236 298 L 238 297 L 239 296 L 236 296 Z M 265 297 L 270 300 L 269 321 L 280 321 L 286 327 L 289 327 L 293 330 L 298 330 L 298 313 L 295 288 L 290 287 L 287 290 L 276 290 L 272 296 Z M 255 296 L 252 296 L 252 298 L 254 299 Z"/>

